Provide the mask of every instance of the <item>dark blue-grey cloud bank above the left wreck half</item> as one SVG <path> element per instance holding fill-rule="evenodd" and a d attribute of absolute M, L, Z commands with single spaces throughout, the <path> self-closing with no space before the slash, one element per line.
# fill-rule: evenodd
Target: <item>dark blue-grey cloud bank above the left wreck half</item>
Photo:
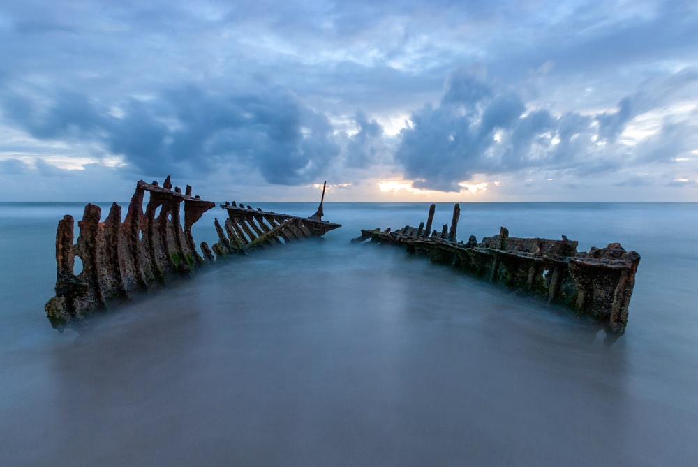
<path fill-rule="evenodd" d="M 6 117 L 38 139 L 101 142 L 147 173 L 258 169 L 272 184 L 320 175 L 339 147 L 327 117 L 282 90 L 207 94 L 196 87 L 155 100 L 131 99 L 118 116 L 76 93 L 59 93 L 40 110 L 29 98 L 3 98 Z"/>

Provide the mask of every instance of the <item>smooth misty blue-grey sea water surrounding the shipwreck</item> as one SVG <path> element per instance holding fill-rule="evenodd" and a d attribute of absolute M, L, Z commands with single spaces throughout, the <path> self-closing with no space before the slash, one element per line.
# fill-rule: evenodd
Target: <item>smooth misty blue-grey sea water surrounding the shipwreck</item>
<path fill-rule="evenodd" d="M 698 465 L 697 204 L 461 204 L 461 239 L 504 225 L 638 251 L 611 346 L 541 300 L 349 244 L 419 225 L 425 203 L 327 203 L 343 228 L 324 241 L 220 262 L 60 334 L 43 310 L 56 226 L 83 206 L 0 203 L 2 466 Z"/>

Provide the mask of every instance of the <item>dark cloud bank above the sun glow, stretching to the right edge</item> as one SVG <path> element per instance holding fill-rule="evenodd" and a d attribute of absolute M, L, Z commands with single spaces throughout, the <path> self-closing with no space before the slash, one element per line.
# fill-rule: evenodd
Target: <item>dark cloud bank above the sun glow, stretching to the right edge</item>
<path fill-rule="evenodd" d="M 690 82 L 685 73 L 665 82 Z M 595 177 L 632 163 L 668 161 L 690 151 L 695 139 L 685 121 L 668 122 L 662 132 L 630 147 L 616 144 L 628 123 L 664 102 L 659 87 L 625 96 L 616 110 L 595 115 L 548 110 L 526 112 L 522 99 L 500 91 L 479 77 L 455 73 L 447 80 L 438 107 L 414 112 L 412 126 L 401 132 L 395 159 L 415 188 L 460 191 L 460 181 L 475 174 L 501 175 L 520 170 L 565 170 Z M 661 156 L 660 156 L 661 154 Z"/>

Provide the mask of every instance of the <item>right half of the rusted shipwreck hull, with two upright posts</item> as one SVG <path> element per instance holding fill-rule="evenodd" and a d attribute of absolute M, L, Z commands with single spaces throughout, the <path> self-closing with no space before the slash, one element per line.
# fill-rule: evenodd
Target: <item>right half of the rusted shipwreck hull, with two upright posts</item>
<path fill-rule="evenodd" d="M 628 305 L 635 283 L 640 255 L 625 251 L 621 244 L 577 251 L 578 242 L 542 238 L 510 237 L 506 228 L 498 235 L 477 242 L 456 240 L 460 206 L 455 205 L 450 228 L 431 231 L 436 206 L 418 228 L 362 230 L 352 242 L 405 246 L 407 251 L 429 256 L 432 262 L 502 283 L 514 290 L 531 292 L 551 303 L 596 318 L 607 334 L 620 336 L 628 323 Z M 430 233 L 431 232 L 431 233 Z"/>

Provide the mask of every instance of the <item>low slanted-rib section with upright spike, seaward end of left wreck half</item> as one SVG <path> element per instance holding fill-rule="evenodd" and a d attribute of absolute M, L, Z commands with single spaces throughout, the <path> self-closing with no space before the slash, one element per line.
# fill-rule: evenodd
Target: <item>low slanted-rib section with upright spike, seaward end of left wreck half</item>
<path fill-rule="evenodd" d="M 298 239 L 322 237 L 330 230 L 341 227 L 341 224 L 322 221 L 326 187 L 327 182 L 322 186 L 322 198 L 317 212 L 308 218 L 262 211 L 249 205 L 244 207 L 242 203 L 238 205 L 235 201 L 226 202 L 221 207 L 228 212 L 228 218 L 225 219 L 228 237 L 223 235 L 223 229 L 219 229 L 220 241 L 216 244 L 219 246 L 214 245 L 214 251 L 218 248 L 223 254 L 245 253 L 251 249 Z"/>

